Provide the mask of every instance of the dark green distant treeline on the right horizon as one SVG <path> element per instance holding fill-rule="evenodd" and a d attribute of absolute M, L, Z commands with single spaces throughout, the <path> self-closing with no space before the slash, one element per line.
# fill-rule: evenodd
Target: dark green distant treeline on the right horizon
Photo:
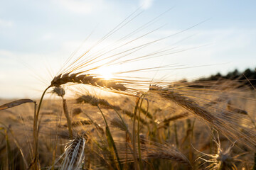
<path fill-rule="evenodd" d="M 217 73 L 210 77 L 201 78 L 196 81 L 218 81 L 223 79 L 235 80 L 240 82 L 242 84 L 241 86 L 247 85 L 254 89 L 256 88 L 256 68 L 254 70 L 245 69 L 244 72 L 238 72 L 238 69 L 235 69 L 233 72 L 228 72 L 226 75 Z"/>

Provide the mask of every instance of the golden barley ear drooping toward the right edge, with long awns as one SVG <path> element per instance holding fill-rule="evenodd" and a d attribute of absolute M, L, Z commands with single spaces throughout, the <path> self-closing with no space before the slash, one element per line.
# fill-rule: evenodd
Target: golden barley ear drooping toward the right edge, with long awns
<path fill-rule="evenodd" d="M 210 125 L 213 125 L 213 127 L 223 132 L 227 137 L 231 137 L 233 140 L 240 140 L 244 142 L 247 147 L 255 150 L 255 130 L 246 128 L 239 123 L 241 119 L 245 118 L 238 117 L 238 115 L 228 112 L 219 113 L 220 110 L 217 108 L 216 111 L 214 111 L 213 109 L 200 106 L 196 101 L 193 101 L 193 99 L 178 94 L 178 92 L 171 89 L 162 89 L 157 86 L 151 86 L 149 92 L 159 94 L 179 106 L 186 108 L 186 110 L 191 111 L 194 115 L 202 118 L 210 123 Z M 238 130 L 239 128 L 242 129 L 242 131 Z"/>

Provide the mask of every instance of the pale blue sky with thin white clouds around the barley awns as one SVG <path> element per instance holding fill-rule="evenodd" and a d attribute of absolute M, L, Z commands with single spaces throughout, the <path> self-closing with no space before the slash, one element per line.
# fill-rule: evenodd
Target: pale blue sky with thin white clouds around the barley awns
<path fill-rule="evenodd" d="M 132 20 L 97 45 L 94 52 L 153 20 L 126 40 L 149 35 L 126 48 L 164 38 L 136 55 L 174 50 L 127 67 L 174 67 L 144 73 L 147 77 L 157 74 L 170 81 L 192 80 L 233 69 L 255 69 L 255 6 L 256 1 L 234 0 L 0 1 L 0 98 L 37 98 L 68 57 L 79 57 L 134 11 Z M 124 40 L 112 47 L 122 43 Z M 114 72 L 127 67 L 116 67 Z"/>

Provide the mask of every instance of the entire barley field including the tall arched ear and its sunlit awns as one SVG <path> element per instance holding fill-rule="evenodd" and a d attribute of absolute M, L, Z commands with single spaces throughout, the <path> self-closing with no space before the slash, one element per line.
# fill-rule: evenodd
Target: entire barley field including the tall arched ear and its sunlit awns
<path fill-rule="evenodd" d="M 158 30 L 135 35 L 152 19 L 94 50 L 133 15 L 71 56 L 40 99 L 0 100 L 0 169 L 256 169 L 256 91 L 243 85 L 250 79 L 169 81 L 154 73 L 173 65 L 136 64 L 183 52 L 146 49 L 201 23 L 140 42 Z M 119 64 L 134 67 L 97 72 Z"/>

